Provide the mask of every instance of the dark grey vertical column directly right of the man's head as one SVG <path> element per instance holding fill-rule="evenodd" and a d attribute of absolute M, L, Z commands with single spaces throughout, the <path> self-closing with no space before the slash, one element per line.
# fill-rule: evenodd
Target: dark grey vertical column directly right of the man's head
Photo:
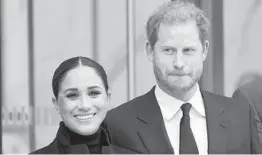
<path fill-rule="evenodd" d="M 200 7 L 211 21 L 209 52 L 200 85 L 205 90 L 224 95 L 223 1 L 201 0 Z"/>

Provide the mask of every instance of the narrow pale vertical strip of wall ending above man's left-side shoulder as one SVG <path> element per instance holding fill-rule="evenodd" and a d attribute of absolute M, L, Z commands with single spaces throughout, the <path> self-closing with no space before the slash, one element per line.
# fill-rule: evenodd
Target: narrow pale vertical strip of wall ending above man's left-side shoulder
<path fill-rule="evenodd" d="M 135 0 L 127 0 L 128 100 L 135 97 Z"/>

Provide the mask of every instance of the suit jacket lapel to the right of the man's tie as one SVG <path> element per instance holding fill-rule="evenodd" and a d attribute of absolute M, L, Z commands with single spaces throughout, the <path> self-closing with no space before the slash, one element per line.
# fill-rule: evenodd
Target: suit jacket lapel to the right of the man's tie
<path fill-rule="evenodd" d="M 208 153 L 219 154 L 226 152 L 227 127 L 225 100 L 217 95 L 201 91 L 207 122 Z"/>

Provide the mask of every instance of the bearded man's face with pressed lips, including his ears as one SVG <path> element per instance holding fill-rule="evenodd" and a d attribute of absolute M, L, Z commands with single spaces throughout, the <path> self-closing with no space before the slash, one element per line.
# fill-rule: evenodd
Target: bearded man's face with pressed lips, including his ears
<path fill-rule="evenodd" d="M 154 49 L 147 44 L 158 84 L 171 91 L 191 90 L 202 75 L 208 41 L 201 43 L 195 21 L 161 24 Z"/>

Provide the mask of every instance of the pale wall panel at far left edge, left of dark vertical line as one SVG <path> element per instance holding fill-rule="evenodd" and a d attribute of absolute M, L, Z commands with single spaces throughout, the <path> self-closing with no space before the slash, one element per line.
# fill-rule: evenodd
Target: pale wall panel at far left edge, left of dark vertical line
<path fill-rule="evenodd" d="M 1 29 L 2 153 L 28 153 L 28 0 L 1 0 Z"/>

